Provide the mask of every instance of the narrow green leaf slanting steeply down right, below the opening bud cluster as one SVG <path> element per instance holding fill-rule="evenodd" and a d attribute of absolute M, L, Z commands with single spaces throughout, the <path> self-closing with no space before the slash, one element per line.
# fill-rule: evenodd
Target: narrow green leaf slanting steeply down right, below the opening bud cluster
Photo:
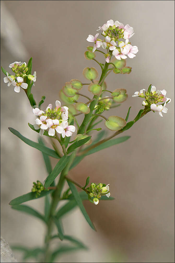
<path fill-rule="evenodd" d="M 71 183 L 70 181 L 67 180 L 67 183 L 72 191 L 72 194 L 74 195 L 74 198 L 77 202 L 77 205 L 79 206 L 80 210 L 82 211 L 82 214 L 84 215 L 86 221 L 88 222 L 88 224 L 92 227 L 93 230 L 96 230 L 95 226 L 93 225 L 93 223 L 91 222 L 91 219 L 89 218 L 84 206 L 83 206 L 83 203 L 82 203 L 82 200 L 81 200 L 81 197 L 75 187 L 75 185 L 73 183 Z"/>

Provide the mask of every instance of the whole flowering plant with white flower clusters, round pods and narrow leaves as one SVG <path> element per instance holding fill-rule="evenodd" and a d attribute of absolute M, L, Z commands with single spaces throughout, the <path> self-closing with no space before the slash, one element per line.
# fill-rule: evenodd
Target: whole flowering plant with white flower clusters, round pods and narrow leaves
<path fill-rule="evenodd" d="M 49 104 L 45 110 L 41 110 L 45 96 L 41 98 L 40 102 L 36 103 L 31 93 L 34 82 L 36 82 L 36 72 L 31 75 L 32 58 L 29 59 L 28 64 L 25 62 L 11 63 L 9 67 L 14 72 L 14 75 L 10 75 L 9 72 L 2 68 L 3 73 L 6 75 L 4 83 L 8 83 L 8 87 L 12 84 L 15 92 L 20 92 L 20 88 L 25 91 L 36 117 L 34 124 L 28 123 L 28 125 L 33 131 L 39 133 L 40 137 L 38 143 L 36 143 L 25 138 L 13 128 L 9 128 L 9 130 L 26 144 L 42 152 L 48 172 L 48 176 L 46 179 L 43 178 L 43 182 L 39 180 L 36 183 L 33 182 L 29 193 L 13 199 L 9 203 L 13 209 L 43 220 L 47 227 L 43 247 L 33 250 L 26 247 L 25 249 L 19 246 L 14 247 L 14 249 L 24 252 L 24 259 L 35 257 L 36 261 L 39 262 L 54 262 L 60 253 L 86 249 L 82 242 L 74 237 L 64 235 L 61 224 L 62 216 L 71 211 L 73 207 L 78 206 L 88 224 L 95 230 L 95 226 L 90 220 L 82 201 L 87 199 L 92 204 L 97 205 L 99 200 L 101 202 L 101 200 L 112 200 L 113 198 L 110 196 L 109 184 L 106 184 L 108 182 L 91 182 L 89 184 L 90 177 L 88 176 L 88 178 L 84 178 L 84 186 L 82 186 L 70 177 L 69 171 L 87 155 L 128 140 L 130 136 L 114 137 L 130 129 L 147 113 L 157 111 L 163 117 L 162 112 L 167 113 L 168 110 L 165 106 L 171 102 L 171 99 L 166 97 L 165 89 L 156 90 L 155 86 L 150 84 L 146 92 L 146 89 L 141 89 L 132 95 L 132 97 L 144 98 L 142 102 L 144 108 L 139 110 L 134 120 L 128 122 L 131 107 L 129 107 L 125 118 L 117 115 L 109 116 L 108 114 L 108 117 L 102 115 L 103 112 L 109 111 L 110 108 L 118 107 L 128 98 L 126 89 L 108 90 L 105 79 L 111 72 L 114 74 L 130 74 L 131 67 L 126 66 L 126 58 L 136 57 L 138 48 L 135 45 L 131 45 L 130 38 L 134 35 L 134 30 L 129 24 L 124 26 L 119 21 L 114 22 L 111 19 L 102 27 L 99 27 L 98 30 L 102 31 L 102 39 L 98 38 L 99 33 L 95 36 L 89 35 L 87 41 L 94 44 L 87 47 L 84 57 L 87 60 L 94 60 L 98 63 L 102 71 L 100 78 L 96 81 L 98 78 L 97 70 L 93 67 L 86 67 L 83 70 L 83 76 L 90 83 L 82 83 L 78 79 L 66 82 L 60 91 L 60 99 L 66 106 L 61 106 L 61 102 L 56 100 L 55 108 L 52 107 L 52 104 Z M 96 52 L 100 52 L 103 55 L 102 63 L 96 59 Z M 88 85 L 88 91 L 92 97 L 80 93 L 80 90 L 86 85 Z M 110 96 L 107 96 L 106 93 Z M 87 101 L 79 101 L 80 97 L 86 98 Z M 81 114 L 84 115 L 84 119 L 79 125 L 77 116 Z M 100 131 L 102 128 L 99 127 L 102 120 L 99 120 L 99 118 L 104 119 L 107 129 L 113 131 L 109 137 L 103 138 L 104 132 Z M 95 133 L 100 131 L 95 139 L 91 135 L 93 131 Z M 44 145 L 41 136 L 46 136 L 46 138 L 50 139 L 54 150 Z M 71 136 L 73 136 L 73 139 L 71 139 Z M 53 169 L 50 163 L 50 156 L 58 159 Z M 57 176 L 59 176 L 59 181 L 56 184 L 55 179 Z M 63 191 L 66 182 L 67 189 Z M 81 189 L 80 192 L 77 191 L 76 186 Z M 22 205 L 26 201 L 42 197 L 45 197 L 44 214 L 40 214 L 27 205 Z M 62 200 L 66 200 L 66 204 L 57 209 L 58 203 L 61 203 Z M 55 235 L 53 234 L 53 225 L 57 227 L 57 234 Z M 51 241 L 55 238 L 69 240 L 72 245 L 61 245 L 54 250 Z"/>

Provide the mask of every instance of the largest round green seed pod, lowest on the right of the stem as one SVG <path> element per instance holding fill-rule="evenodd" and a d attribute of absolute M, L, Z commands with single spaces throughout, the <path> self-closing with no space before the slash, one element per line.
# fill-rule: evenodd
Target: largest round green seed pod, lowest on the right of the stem
<path fill-rule="evenodd" d="M 107 121 L 105 121 L 105 126 L 112 131 L 119 131 L 126 125 L 126 121 L 118 116 L 110 116 Z"/>

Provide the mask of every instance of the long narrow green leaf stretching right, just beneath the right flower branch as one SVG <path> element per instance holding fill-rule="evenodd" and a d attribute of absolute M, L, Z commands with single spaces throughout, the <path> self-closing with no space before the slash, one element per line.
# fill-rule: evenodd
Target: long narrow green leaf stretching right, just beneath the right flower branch
<path fill-rule="evenodd" d="M 105 141 L 104 143 L 98 145 L 97 147 L 89 150 L 85 155 L 96 153 L 97 151 L 103 150 L 105 148 L 108 148 L 108 147 L 113 146 L 113 145 L 118 144 L 118 143 L 123 143 L 124 141 L 128 140 L 129 138 L 130 138 L 130 136 L 123 136 L 120 138 L 115 138 L 115 139 L 112 139 L 109 141 Z"/>

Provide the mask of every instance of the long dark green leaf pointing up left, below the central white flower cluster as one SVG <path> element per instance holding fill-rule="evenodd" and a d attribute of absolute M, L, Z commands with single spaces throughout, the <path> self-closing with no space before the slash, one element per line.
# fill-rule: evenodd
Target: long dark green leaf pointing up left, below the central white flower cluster
<path fill-rule="evenodd" d="M 41 145 L 39 143 L 36 143 L 35 141 L 31 141 L 29 139 L 27 139 L 26 137 L 24 137 L 22 134 L 19 133 L 19 131 L 13 129 L 13 128 L 10 128 L 9 127 L 9 130 L 14 134 L 16 135 L 19 139 L 21 139 L 22 141 L 24 141 L 26 144 L 30 145 L 31 147 L 34 147 L 36 149 L 38 149 L 39 151 L 42 151 L 43 153 L 49 155 L 49 156 L 52 156 L 54 158 L 57 158 L 59 159 L 59 156 L 57 155 L 56 151 L 44 146 L 44 145 Z"/>

